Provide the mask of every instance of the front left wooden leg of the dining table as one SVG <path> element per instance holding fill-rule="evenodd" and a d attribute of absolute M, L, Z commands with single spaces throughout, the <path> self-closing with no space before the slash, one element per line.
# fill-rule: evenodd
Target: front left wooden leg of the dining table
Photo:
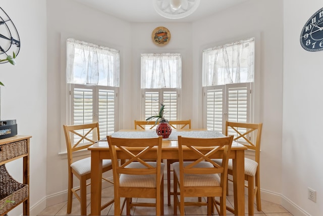
<path fill-rule="evenodd" d="M 91 151 L 91 215 L 101 214 L 102 159 Z"/>

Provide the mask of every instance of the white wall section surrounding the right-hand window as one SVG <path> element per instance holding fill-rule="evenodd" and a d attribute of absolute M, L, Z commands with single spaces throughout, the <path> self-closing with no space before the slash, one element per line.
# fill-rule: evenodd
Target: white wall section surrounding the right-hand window
<path fill-rule="evenodd" d="M 265 13 L 264 13 L 265 11 Z M 275 15 L 274 15 L 275 14 Z M 262 192 L 280 194 L 282 148 L 282 2 L 249 1 L 216 16 L 193 23 L 193 80 L 201 80 L 202 49 L 249 37 L 256 37 L 255 122 L 262 122 L 260 184 Z M 192 85 L 201 104 L 201 81 Z M 193 106 L 197 119 L 201 106 Z M 201 126 L 201 122 L 199 124 Z M 262 198 L 279 203 L 276 197 Z"/>

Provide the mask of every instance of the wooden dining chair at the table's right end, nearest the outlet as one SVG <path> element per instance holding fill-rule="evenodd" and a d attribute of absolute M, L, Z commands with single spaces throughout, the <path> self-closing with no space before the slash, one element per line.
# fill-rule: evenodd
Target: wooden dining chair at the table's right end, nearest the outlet
<path fill-rule="evenodd" d="M 262 123 L 239 123 L 239 122 L 226 122 L 225 135 L 234 135 L 234 140 L 238 143 L 246 146 L 249 150 L 254 151 L 254 160 L 250 158 L 244 158 L 244 176 L 247 181 L 245 187 L 248 188 L 248 214 L 254 214 L 254 197 L 256 196 L 257 210 L 261 211 L 261 199 L 260 199 L 260 140 L 261 140 Z M 222 161 L 214 159 L 218 164 Z M 228 175 L 233 174 L 232 171 L 232 159 L 229 159 Z M 229 181 L 232 181 L 228 178 Z M 228 188 L 227 188 L 228 193 Z M 227 207 L 231 212 L 234 209 Z"/>

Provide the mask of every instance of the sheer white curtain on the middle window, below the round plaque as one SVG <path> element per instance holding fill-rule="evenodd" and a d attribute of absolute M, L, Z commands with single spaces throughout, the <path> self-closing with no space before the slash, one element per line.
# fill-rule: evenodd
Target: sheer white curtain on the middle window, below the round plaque
<path fill-rule="evenodd" d="M 181 88 L 182 58 L 179 53 L 141 54 L 141 88 Z"/>

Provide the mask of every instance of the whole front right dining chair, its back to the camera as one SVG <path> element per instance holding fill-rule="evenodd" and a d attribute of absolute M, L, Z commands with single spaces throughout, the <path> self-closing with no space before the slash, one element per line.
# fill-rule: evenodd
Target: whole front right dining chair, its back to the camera
<path fill-rule="evenodd" d="M 220 197 L 220 215 L 226 214 L 226 188 L 228 158 L 233 136 L 221 138 L 187 138 L 178 136 L 179 161 L 174 167 L 174 215 L 179 206 L 184 215 L 184 205 L 207 205 L 207 215 L 212 215 L 214 197 Z M 184 161 L 183 154 L 189 154 L 193 161 Z M 223 161 L 217 164 L 211 158 L 219 155 Z M 221 177 L 220 177 L 220 176 Z M 178 187 L 180 198 L 178 198 Z M 188 202 L 185 197 L 207 197 L 206 202 Z"/>

